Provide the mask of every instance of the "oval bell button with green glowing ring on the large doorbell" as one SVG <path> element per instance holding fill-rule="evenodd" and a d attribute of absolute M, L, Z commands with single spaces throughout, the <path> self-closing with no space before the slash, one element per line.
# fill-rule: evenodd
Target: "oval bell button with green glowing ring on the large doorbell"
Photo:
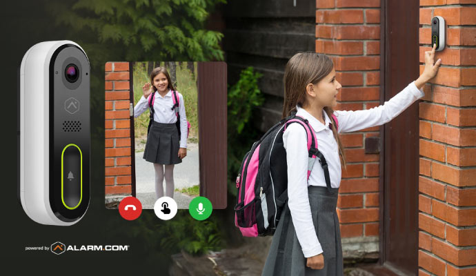
<path fill-rule="evenodd" d="M 79 146 L 68 144 L 61 152 L 61 201 L 73 210 L 83 198 L 83 154 Z"/>

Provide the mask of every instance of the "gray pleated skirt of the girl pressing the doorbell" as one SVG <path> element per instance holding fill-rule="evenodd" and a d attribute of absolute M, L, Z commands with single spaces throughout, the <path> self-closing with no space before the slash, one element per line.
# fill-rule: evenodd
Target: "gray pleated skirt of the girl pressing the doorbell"
<path fill-rule="evenodd" d="M 344 275 L 339 218 L 335 210 L 339 188 L 330 188 L 329 191 L 327 187 L 308 186 L 308 195 L 317 239 L 324 251 L 324 268 L 306 266 L 307 259 L 302 253 L 286 203 L 261 275 Z"/>

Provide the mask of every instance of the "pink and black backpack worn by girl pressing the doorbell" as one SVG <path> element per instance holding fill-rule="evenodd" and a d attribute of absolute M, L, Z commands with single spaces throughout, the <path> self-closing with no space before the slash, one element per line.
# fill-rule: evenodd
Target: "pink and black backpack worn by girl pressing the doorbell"
<path fill-rule="evenodd" d="M 332 120 L 337 129 L 337 117 L 332 115 Z M 288 201 L 288 165 L 283 133 L 290 124 L 303 126 L 307 133 L 308 180 L 317 158 L 330 189 L 328 164 L 317 149 L 315 132 L 308 120 L 295 114 L 282 119 L 252 145 L 241 162 L 236 181 L 235 225 L 245 237 L 273 235 Z"/>

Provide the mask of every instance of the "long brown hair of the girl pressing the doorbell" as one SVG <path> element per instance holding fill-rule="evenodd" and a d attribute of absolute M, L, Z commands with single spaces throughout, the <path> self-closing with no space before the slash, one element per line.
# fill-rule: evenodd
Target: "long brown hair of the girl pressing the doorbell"
<path fill-rule="evenodd" d="M 306 86 L 309 83 L 317 84 L 326 77 L 334 68 L 333 61 L 326 55 L 317 52 L 299 52 L 292 56 L 286 69 L 284 70 L 284 105 L 283 118 L 291 115 L 296 110 L 296 106 L 303 106 L 306 101 Z M 339 133 L 335 128 L 335 121 L 332 117 L 333 108 L 325 106 L 324 111 L 333 121 L 332 130 L 334 138 L 339 145 L 339 156 L 341 164 L 346 167 L 346 156 L 344 146 L 342 146 Z"/>

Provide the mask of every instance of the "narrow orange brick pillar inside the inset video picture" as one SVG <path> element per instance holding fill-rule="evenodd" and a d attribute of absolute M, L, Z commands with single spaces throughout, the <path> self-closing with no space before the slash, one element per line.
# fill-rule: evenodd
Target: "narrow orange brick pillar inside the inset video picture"
<path fill-rule="evenodd" d="M 131 195 L 129 63 L 106 63 L 106 203 Z"/>

